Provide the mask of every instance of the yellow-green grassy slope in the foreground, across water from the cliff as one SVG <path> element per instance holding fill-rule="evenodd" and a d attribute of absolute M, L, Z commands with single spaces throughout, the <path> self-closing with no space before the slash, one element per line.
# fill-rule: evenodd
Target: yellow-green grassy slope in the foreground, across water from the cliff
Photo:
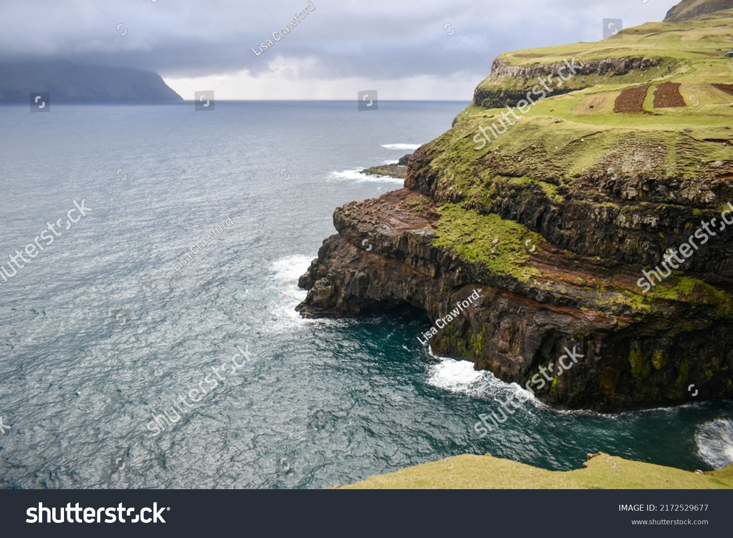
<path fill-rule="evenodd" d="M 490 455 L 464 454 L 395 473 L 372 476 L 345 489 L 726 489 L 733 465 L 703 474 L 663 465 L 589 455 L 582 469 L 546 471 Z"/>

